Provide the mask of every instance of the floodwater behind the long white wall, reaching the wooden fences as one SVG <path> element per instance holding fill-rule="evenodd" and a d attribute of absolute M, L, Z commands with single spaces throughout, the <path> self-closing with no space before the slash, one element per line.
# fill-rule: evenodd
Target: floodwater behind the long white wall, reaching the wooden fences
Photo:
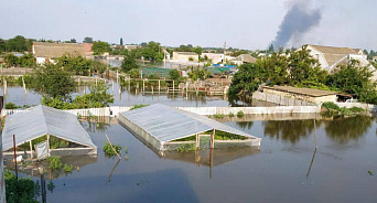
<path fill-rule="evenodd" d="M 270 103 L 258 103 L 258 100 L 254 100 L 252 103 L 245 103 L 241 100 L 231 103 L 228 101 L 228 98 L 225 96 L 205 96 L 195 94 L 165 94 L 164 92 L 154 94 L 146 93 L 141 94 L 139 92 L 134 92 L 134 88 L 128 92 L 127 88 L 120 88 L 119 84 L 116 82 L 108 82 L 109 89 L 108 92 L 114 95 L 114 104 L 110 106 L 133 106 L 141 104 L 155 104 L 161 103 L 169 106 L 193 106 L 193 107 L 202 107 L 202 106 L 274 106 Z M 0 93 L 3 93 L 1 88 Z M 83 95 L 85 93 L 89 93 L 89 87 L 80 87 L 77 89 L 77 93 L 74 95 Z M 24 89 L 20 86 L 12 86 L 7 88 L 7 95 L 4 97 L 4 104 L 12 101 L 18 106 L 23 105 L 39 105 L 41 104 L 42 95 L 35 93 L 33 90 Z"/>

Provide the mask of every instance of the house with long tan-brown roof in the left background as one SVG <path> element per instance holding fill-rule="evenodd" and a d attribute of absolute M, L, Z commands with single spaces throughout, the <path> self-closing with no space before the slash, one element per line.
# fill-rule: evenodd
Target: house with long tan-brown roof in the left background
<path fill-rule="evenodd" d="M 46 62 L 54 63 L 54 60 L 69 54 L 72 56 L 85 57 L 86 52 L 83 44 L 76 43 L 46 43 L 33 42 L 32 52 L 37 64 Z"/>

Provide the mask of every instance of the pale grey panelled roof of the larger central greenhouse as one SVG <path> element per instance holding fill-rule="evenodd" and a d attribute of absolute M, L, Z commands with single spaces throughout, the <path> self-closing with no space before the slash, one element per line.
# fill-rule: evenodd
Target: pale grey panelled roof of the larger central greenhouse
<path fill-rule="evenodd" d="M 212 129 L 256 138 L 205 116 L 195 115 L 162 104 L 129 110 L 121 113 L 121 115 L 160 142 L 190 137 Z"/>

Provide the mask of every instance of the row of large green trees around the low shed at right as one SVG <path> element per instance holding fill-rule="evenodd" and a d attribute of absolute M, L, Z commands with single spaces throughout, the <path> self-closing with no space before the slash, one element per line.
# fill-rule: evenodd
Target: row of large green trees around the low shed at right
<path fill-rule="evenodd" d="M 255 64 L 241 65 L 234 76 L 229 94 L 252 94 L 262 84 L 290 85 L 343 92 L 360 101 L 377 104 L 377 84 L 371 76 L 373 70 L 354 60 L 328 74 L 321 70 L 319 61 L 310 55 L 304 45 L 301 50 L 280 49 Z"/>

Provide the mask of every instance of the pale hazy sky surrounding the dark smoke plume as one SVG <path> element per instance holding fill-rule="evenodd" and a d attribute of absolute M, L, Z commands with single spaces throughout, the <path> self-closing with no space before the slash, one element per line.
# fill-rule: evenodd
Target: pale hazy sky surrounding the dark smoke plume
<path fill-rule="evenodd" d="M 292 4 L 321 20 L 288 46 L 377 50 L 377 0 L 0 0 L 0 38 L 266 49 Z M 300 21 L 300 19 L 294 19 Z M 294 22 L 294 21 L 293 21 Z"/>

